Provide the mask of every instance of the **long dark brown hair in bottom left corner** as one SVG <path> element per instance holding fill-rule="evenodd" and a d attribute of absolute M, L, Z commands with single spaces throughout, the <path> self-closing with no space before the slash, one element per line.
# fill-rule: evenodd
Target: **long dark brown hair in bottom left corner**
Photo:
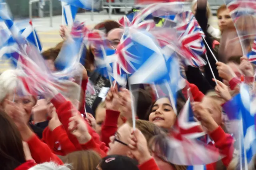
<path fill-rule="evenodd" d="M 0 160 L 2 170 L 14 170 L 26 162 L 22 137 L 12 119 L 0 110 Z"/>

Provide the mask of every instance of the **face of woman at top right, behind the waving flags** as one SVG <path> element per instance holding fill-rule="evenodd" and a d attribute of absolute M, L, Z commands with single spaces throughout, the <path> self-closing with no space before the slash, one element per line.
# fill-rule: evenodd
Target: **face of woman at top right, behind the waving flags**
<path fill-rule="evenodd" d="M 220 10 L 220 12 L 217 14 L 217 18 L 218 18 L 218 26 L 221 32 L 223 32 L 228 28 L 234 28 L 234 24 L 228 9 Z"/>

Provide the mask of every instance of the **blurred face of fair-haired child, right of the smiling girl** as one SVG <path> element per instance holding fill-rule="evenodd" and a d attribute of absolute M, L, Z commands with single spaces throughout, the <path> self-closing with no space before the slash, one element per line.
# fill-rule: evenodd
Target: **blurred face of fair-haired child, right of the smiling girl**
<path fill-rule="evenodd" d="M 202 106 L 208 110 L 214 121 L 218 124 L 222 124 L 222 110 L 221 102 L 205 96 L 202 100 Z"/>

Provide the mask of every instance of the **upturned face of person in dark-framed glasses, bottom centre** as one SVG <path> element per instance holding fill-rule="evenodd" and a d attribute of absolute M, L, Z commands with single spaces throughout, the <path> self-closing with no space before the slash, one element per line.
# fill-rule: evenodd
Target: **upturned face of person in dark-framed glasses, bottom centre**
<path fill-rule="evenodd" d="M 129 148 L 125 144 L 128 144 L 128 138 L 130 137 L 131 130 L 132 128 L 130 125 L 125 123 L 118 128 L 115 136 L 110 136 L 108 155 L 127 155 Z M 116 140 L 121 141 L 124 144 Z"/>

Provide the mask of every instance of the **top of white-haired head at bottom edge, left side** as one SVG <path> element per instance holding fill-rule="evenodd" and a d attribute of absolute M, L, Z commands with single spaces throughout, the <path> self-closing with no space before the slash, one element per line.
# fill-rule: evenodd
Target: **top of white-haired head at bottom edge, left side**
<path fill-rule="evenodd" d="M 69 164 L 66 165 L 57 165 L 54 162 L 45 162 L 43 164 L 37 164 L 28 170 L 71 170 Z"/>

